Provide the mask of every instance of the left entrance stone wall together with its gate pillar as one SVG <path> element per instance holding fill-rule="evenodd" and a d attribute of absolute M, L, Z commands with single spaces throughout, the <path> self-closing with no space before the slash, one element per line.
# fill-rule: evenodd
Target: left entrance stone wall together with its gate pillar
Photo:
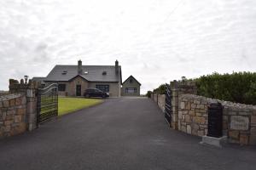
<path fill-rule="evenodd" d="M 9 94 L 0 96 L 0 138 L 37 128 L 37 97 L 40 85 L 9 80 Z"/>

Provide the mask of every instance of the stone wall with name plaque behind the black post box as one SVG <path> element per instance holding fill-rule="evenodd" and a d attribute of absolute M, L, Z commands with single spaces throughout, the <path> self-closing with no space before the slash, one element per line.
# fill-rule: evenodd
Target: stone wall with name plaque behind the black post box
<path fill-rule="evenodd" d="M 256 106 L 242 105 L 193 94 L 178 97 L 178 130 L 196 136 L 207 135 L 208 111 L 211 103 L 221 103 L 223 134 L 230 143 L 256 144 Z"/>

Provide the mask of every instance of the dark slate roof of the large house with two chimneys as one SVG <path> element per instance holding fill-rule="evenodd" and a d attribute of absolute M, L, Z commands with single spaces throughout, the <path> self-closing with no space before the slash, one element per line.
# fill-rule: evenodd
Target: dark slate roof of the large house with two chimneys
<path fill-rule="evenodd" d="M 79 75 L 78 65 L 55 65 L 44 81 L 67 82 L 77 76 L 83 77 L 89 82 L 122 81 L 121 66 L 119 66 L 119 74 L 115 73 L 114 65 L 83 65 L 82 70 L 83 73 Z M 106 71 L 107 74 L 103 75 L 103 71 Z"/>

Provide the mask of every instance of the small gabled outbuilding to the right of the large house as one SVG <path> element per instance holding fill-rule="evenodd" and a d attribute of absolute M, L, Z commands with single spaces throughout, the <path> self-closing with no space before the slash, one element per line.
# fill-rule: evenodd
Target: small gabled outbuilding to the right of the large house
<path fill-rule="evenodd" d="M 140 96 L 141 83 L 136 78 L 130 76 L 122 86 L 122 96 Z"/>

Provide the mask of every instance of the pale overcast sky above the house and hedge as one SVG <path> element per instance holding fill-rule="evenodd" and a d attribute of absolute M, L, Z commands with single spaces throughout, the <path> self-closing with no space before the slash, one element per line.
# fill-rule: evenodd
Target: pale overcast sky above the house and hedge
<path fill-rule="evenodd" d="M 256 1 L 0 1 L 0 89 L 79 59 L 118 59 L 143 94 L 183 76 L 256 71 Z"/>

